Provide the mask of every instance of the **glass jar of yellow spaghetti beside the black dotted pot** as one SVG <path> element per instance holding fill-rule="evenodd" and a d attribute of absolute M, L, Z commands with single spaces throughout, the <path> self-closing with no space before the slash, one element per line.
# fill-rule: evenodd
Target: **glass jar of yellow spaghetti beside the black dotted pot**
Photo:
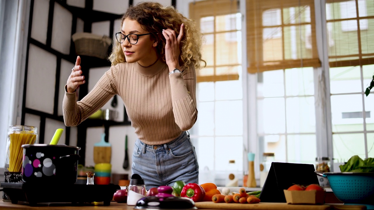
<path fill-rule="evenodd" d="M 24 144 L 37 143 L 37 127 L 34 126 L 9 126 L 6 142 L 5 171 L 21 172 Z"/>

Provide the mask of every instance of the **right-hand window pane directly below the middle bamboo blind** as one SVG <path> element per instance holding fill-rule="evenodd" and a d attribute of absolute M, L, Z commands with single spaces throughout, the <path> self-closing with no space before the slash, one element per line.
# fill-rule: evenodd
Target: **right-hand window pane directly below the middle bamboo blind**
<path fill-rule="evenodd" d="M 313 68 L 292 68 L 285 70 L 286 96 L 314 95 Z"/>

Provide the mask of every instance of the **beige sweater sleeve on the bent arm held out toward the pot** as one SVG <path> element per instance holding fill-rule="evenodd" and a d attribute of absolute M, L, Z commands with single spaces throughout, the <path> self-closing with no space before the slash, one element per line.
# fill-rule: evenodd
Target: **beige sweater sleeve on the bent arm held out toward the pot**
<path fill-rule="evenodd" d="M 118 66 L 112 66 L 105 72 L 95 87 L 81 100 L 76 101 L 76 92 L 68 93 L 65 85 L 65 96 L 62 101 L 62 111 L 66 126 L 77 126 L 82 121 L 104 106 L 110 98 L 117 94 Z"/>

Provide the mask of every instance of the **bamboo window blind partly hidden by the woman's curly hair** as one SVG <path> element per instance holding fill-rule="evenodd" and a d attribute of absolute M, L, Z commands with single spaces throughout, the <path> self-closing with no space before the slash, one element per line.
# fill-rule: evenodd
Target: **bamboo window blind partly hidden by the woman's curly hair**
<path fill-rule="evenodd" d="M 196 70 L 197 82 L 239 79 L 242 44 L 238 2 L 194 1 L 189 4 L 189 11 L 203 34 L 202 58 L 206 67 Z"/>

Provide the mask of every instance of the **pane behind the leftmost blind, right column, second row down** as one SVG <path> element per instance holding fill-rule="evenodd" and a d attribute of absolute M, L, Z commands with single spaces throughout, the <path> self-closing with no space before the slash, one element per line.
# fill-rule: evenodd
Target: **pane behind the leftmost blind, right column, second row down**
<path fill-rule="evenodd" d="M 241 56 L 241 51 L 239 52 L 237 33 L 227 32 L 227 33 L 217 33 L 216 38 L 216 52 L 215 52 L 215 64 L 216 65 L 227 65 L 227 64 L 238 64 L 239 56 Z M 241 47 L 240 47 L 241 50 Z"/>

